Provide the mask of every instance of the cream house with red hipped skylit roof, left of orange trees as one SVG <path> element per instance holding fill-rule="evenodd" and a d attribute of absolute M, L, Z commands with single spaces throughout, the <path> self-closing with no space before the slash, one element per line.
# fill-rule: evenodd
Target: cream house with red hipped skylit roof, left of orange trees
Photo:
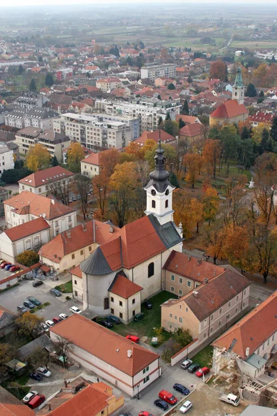
<path fill-rule="evenodd" d="M 37 171 L 19 180 L 19 193 L 30 191 L 37 195 L 46 196 L 53 189 L 70 187 L 74 173 L 67 171 L 62 166 Z"/>

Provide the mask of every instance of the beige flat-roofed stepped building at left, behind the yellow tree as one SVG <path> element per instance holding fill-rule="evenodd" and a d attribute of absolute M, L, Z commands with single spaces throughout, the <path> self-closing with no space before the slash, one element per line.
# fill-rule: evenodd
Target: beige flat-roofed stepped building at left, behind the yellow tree
<path fill-rule="evenodd" d="M 26 127 L 16 133 L 15 143 L 19 146 L 19 153 L 23 155 L 28 153 L 30 146 L 42 144 L 52 157 L 55 156 L 58 160 L 62 160 L 63 150 L 70 146 L 70 139 L 68 136 L 52 130 Z"/>

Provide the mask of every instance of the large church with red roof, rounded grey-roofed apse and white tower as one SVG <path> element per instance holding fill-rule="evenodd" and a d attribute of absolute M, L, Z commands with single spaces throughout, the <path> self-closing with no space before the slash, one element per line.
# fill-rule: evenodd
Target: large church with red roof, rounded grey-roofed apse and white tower
<path fill-rule="evenodd" d="M 83 309 L 116 315 L 125 323 L 141 312 L 142 302 L 165 288 L 163 266 L 170 254 L 181 254 L 183 248 L 182 226 L 173 220 L 175 187 L 168 180 L 161 138 L 154 160 L 155 169 L 144 188 L 146 215 L 122 228 L 110 224 L 102 243 L 76 272 L 82 276 Z"/>

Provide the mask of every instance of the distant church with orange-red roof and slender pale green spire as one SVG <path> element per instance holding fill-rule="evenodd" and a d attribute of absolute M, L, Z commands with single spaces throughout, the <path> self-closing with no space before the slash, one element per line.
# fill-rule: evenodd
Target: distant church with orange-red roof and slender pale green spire
<path fill-rule="evenodd" d="M 210 127 L 226 124 L 238 124 L 248 119 L 249 112 L 244 105 L 244 85 L 242 83 L 242 69 L 238 67 L 233 85 L 232 99 L 225 101 L 210 114 Z"/>

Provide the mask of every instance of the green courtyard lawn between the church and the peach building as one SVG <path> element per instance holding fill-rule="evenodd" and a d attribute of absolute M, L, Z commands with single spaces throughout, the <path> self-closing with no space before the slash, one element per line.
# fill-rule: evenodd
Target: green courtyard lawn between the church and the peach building
<path fill-rule="evenodd" d="M 163 302 L 166 302 L 166 300 L 170 298 L 177 298 L 176 295 L 170 293 L 170 292 L 160 292 L 157 295 L 153 296 L 150 299 L 150 302 L 152 303 L 152 309 L 146 309 L 144 304 L 141 305 L 141 312 L 144 313 L 143 320 L 139 322 L 130 322 L 129 324 L 119 324 L 114 325 L 113 330 L 117 333 L 120 333 L 120 335 L 126 336 L 128 334 L 139 336 L 140 338 L 142 336 L 148 337 L 148 343 L 150 343 L 152 336 L 154 336 L 154 330 L 153 328 L 159 328 L 161 327 L 161 307 L 160 305 Z M 170 338 L 170 333 L 164 331 L 163 333 L 165 340 Z"/>

